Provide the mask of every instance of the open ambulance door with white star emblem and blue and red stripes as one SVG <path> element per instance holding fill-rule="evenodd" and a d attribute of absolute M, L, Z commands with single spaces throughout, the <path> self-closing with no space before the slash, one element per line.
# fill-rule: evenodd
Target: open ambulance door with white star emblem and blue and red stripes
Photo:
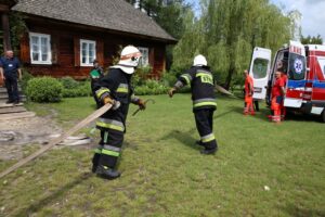
<path fill-rule="evenodd" d="M 297 41 L 290 41 L 288 60 L 288 80 L 284 105 L 286 107 L 301 107 L 306 86 L 306 50 Z"/>

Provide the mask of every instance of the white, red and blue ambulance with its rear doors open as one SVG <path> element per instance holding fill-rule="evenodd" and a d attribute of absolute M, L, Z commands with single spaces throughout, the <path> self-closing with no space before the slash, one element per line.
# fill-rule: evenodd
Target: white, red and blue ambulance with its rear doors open
<path fill-rule="evenodd" d="M 271 88 L 281 67 L 287 75 L 284 106 L 288 112 L 320 115 L 325 123 L 325 46 L 290 41 L 278 50 L 271 63 L 270 49 L 255 48 L 249 75 L 253 78 L 253 99 L 271 104 Z"/>

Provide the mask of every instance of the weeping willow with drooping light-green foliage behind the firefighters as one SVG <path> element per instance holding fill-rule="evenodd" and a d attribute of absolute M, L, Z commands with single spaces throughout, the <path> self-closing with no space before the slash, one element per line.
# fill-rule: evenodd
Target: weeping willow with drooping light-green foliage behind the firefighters
<path fill-rule="evenodd" d="M 275 51 L 290 39 L 290 18 L 268 0 L 202 0 L 200 5 L 202 16 L 186 20 L 173 67 L 188 67 L 202 53 L 227 89 L 248 67 L 253 47 Z"/>

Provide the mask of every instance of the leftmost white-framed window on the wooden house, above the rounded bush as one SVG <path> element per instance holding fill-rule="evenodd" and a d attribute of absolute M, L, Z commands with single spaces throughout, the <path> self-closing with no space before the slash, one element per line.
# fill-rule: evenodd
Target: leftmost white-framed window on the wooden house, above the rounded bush
<path fill-rule="evenodd" d="M 29 33 L 31 64 L 52 64 L 51 36 Z"/>

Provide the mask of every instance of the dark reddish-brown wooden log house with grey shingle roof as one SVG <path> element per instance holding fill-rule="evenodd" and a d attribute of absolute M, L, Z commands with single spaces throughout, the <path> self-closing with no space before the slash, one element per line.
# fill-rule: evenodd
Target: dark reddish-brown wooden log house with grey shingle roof
<path fill-rule="evenodd" d="M 142 64 L 153 68 L 151 77 L 158 78 L 166 46 L 177 42 L 125 0 L 0 0 L 4 49 L 11 48 L 9 12 L 21 13 L 26 22 L 18 56 L 37 76 L 83 79 L 93 59 L 107 68 L 120 46 L 133 44 L 143 53 Z"/>

